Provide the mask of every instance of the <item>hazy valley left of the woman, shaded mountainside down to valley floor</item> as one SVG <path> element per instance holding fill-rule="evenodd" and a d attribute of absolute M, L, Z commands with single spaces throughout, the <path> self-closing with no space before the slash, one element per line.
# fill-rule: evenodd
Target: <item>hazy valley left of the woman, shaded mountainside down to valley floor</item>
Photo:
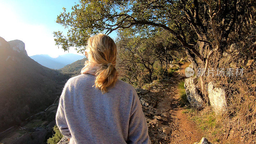
<path fill-rule="evenodd" d="M 42 135 L 35 140 L 45 141 L 52 134 L 54 110 L 69 76 L 32 60 L 22 41 L 7 42 L 2 37 L 0 73 L 0 141 L 24 142 L 33 133 Z"/>

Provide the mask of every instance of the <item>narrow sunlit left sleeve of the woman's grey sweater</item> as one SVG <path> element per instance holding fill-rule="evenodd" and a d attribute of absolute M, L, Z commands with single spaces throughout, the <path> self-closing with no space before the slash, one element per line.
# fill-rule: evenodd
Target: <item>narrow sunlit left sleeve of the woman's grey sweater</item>
<path fill-rule="evenodd" d="M 67 95 L 69 93 L 68 91 L 69 91 L 69 89 L 68 89 L 68 82 L 67 82 L 67 84 L 64 86 L 63 91 L 60 95 L 60 102 L 59 102 L 59 106 L 58 106 L 57 113 L 56 113 L 56 124 L 59 127 L 60 132 L 64 136 L 66 136 L 68 139 L 70 139 L 71 134 L 68 129 L 68 124 L 66 121 L 66 116 L 65 116 L 65 111 L 64 111 L 64 109 L 65 109 L 64 108 L 64 98 L 65 98 L 65 95 Z"/>

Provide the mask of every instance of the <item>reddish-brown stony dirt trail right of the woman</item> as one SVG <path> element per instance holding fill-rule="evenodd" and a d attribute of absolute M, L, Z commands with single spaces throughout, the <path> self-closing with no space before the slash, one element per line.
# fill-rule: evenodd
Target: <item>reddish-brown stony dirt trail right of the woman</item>
<path fill-rule="evenodd" d="M 183 78 L 179 71 L 175 72 L 172 78 L 153 82 L 150 91 L 141 90 L 138 94 L 153 143 L 191 144 L 204 136 L 178 106 L 178 84 Z"/>

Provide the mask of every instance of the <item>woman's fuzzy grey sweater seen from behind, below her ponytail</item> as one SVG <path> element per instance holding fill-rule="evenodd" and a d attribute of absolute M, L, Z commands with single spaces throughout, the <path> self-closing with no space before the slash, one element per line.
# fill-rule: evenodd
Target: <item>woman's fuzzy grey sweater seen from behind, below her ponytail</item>
<path fill-rule="evenodd" d="M 66 83 L 56 123 L 70 143 L 150 143 L 135 89 L 121 80 L 102 94 L 95 76 L 82 74 Z"/>

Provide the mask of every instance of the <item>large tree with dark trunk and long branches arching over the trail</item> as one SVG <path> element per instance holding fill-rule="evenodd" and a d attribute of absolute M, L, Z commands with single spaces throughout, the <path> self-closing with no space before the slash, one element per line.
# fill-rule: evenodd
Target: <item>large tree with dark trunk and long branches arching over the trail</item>
<path fill-rule="evenodd" d="M 81 0 L 80 3 L 72 7 L 71 13 L 63 8 L 57 18 L 57 23 L 68 28 L 66 36 L 54 32 L 56 44 L 64 50 L 86 45 L 88 37 L 98 32 L 111 33 L 120 28 L 150 32 L 163 29 L 182 44 L 196 71 L 199 65 L 207 63 L 207 53 L 215 47 L 216 38 L 219 50 L 224 51 L 236 21 L 245 14 L 252 15 L 250 9 L 255 4 L 253 0 Z M 252 23 L 250 20 L 247 21 Z M 218 32 L 216 36 L 210 21 L 216 24 L 213 29 Z M 204 85 L 203 78 L 201 83 Z"/>

